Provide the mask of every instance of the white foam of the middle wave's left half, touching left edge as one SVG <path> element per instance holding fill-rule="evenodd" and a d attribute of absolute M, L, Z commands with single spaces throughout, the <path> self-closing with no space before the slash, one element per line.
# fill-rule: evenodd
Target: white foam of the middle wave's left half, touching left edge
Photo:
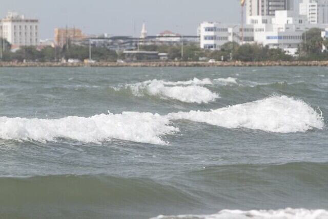
<path fill-rule="evenodd" d="M 62 119 L 27 119 L 0 117 L 0 138 L 6 140 L 56 141 L 68 138 L 100 143 L 121 139 L 134 142 L 166 144 L 160 136 L 178 132 L 168 118 L 151 113 L 125 112 L 92 117 Z"/>

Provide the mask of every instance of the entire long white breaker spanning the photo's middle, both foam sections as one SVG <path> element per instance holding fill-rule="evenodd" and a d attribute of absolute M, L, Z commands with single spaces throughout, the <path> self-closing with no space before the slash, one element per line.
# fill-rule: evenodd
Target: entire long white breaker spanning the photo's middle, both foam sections
<path fill-rule="evenodd" d="M 323 116 L 301 100 L 273 96 L 212 110 L 170 113 L 166 116 L 151 113 L 124 112 L 101 114 L 89 118 L 62 119 L 0 118 L 0 138 L 6 140 L 55 141 L 68 138 L 99 143 L 111 138 L 127 141 L 166 144 L 161 136 L 172 135 L 179 128 L 170 125 L 174 120 L 190 120 L 225 128 L 259 129 L 273 133 L 306 132 L 322 129 Z"/>

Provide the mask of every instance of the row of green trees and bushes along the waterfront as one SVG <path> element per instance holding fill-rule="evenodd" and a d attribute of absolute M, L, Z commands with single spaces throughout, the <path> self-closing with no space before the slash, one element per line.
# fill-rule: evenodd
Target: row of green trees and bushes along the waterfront
<path fill-rule="evenodd" d="M 143 45 L 140 49 L 145 51 L 158 51 L 167 53 L 168 60 L 199 61 L 215 59 L 217 61 L 312 61 L 328 60 L 328 52 L 322 50 L 322 46 L 328 47 L 328 40 L 321 37 L 321 30 L 313 28 L 303 34 L 303 42 L 298 48 L 296 56 L 286 54 L 281 49 L 270 49 L 257 44 L 236 42 L 225 43 L 220 50 L 204 50 L 199 48 L 198 43 L 184 45 Z M 5 52 L 2 61 L 38 61 L 55 62 L 61 59 L 89 58 L 89 47 L 69 45 L 69 47 L 22 47 L 15 52 L 10 51 L 10 44 L 5 41 Z M 183 54 L 182 54 L 183 51 Z M 124 59 L 122 52 L 109 50 L 101 47 L 92 48 L 92 59 L 96 61 L 115 62 Z"/>

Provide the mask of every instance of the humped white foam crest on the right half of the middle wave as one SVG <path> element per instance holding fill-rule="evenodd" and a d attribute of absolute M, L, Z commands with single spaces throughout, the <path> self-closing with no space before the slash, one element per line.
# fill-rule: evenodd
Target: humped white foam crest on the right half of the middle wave
<path fill-rule="evenodd" d="M 324 126 L 322 115 L 310 105 L 286 96 L 273 96 L 210 112 L 171 113 L 167 117 L 171 120 L 186 119 L 226 128 L 259 129 L 273 133 L 305 132 Z"/>

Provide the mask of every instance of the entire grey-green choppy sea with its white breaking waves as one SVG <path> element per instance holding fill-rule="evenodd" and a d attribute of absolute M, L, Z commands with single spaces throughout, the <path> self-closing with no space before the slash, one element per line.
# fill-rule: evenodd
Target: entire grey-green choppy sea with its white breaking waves
<path fill-rule="evenodd" d="M 0 218 L 328 218 L 328 68 L 1 68 Z"/>

